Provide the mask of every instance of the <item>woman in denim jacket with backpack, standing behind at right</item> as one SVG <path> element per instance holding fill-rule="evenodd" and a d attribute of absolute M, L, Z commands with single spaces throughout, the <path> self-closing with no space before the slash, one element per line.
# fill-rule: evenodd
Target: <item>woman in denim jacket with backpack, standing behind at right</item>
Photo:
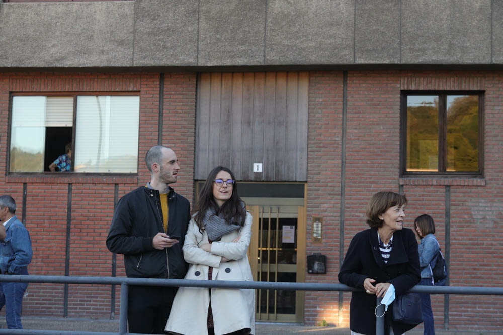
<path fill-rule="evenodd" d="M 435 221 L 428 214 L 417 216 L 414 220 L 414 229 L 417 237 L 420 239 L 419 244 L 419 265 L 421 266 L 421 282 L 420 285 L 433 286 L 433 267 L 432 264 L 437 253 L 440 251 L 440 244 L 435 237 Z M 423 311 L 423 322 L 425 335 L 434 335 L 435 326 L 433 320 L 432 304 L 429 293 L 420 293 L 421 309 Z"/>

